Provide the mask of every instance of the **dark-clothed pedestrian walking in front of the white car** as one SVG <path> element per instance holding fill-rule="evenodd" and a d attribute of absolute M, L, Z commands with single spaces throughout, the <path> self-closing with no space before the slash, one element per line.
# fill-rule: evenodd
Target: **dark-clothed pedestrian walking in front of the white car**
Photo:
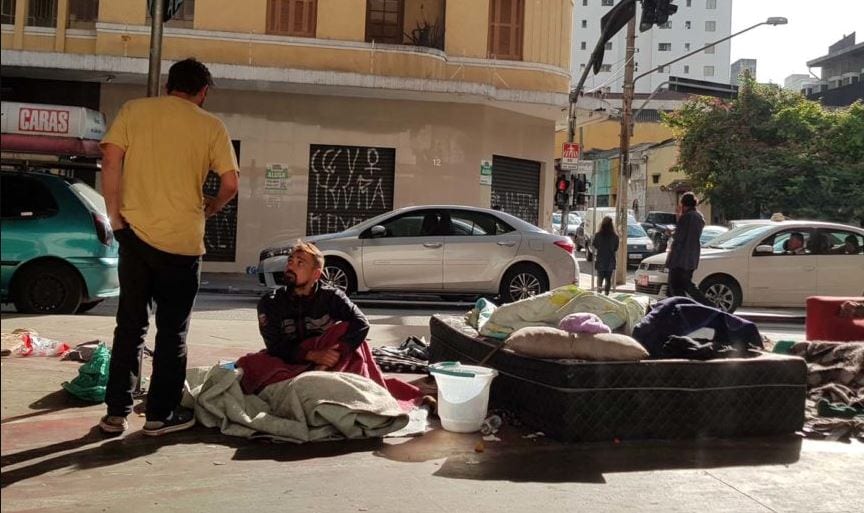
<path fill-rule="evenodd" d="M 666 268 L 669 269 L 669 296 L 689 295 L 696 301 L 708 306 L 714 302 L 705 297 L 693 283 L 693 271 L 699 267 L 701 256 L 702 228 L 705 219 L 696 210 L 696 195 L 685 192 L 681 196 L 681 216 L 675 226 L 672 247 L 666 256 Z"/>

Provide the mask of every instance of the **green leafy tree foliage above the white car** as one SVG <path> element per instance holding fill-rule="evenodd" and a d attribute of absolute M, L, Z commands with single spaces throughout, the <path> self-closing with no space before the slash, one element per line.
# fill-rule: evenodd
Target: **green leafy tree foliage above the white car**
<path fill-rule="evenodd" d="M 728 219 L 772 212 L 864 225 L 864 104 L 830 110 L 746 79 L 731 101 L 689 100 L 663 118 L 676 169 Z"/>

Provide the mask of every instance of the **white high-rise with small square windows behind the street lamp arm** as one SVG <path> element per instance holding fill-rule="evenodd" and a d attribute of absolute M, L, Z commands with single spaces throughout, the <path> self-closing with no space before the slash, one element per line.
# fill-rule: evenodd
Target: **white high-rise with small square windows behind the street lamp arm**
<path fill-rule="evenodd" d="M 573 40 L 570 69 L 573 81 L 578 81 L 600 37 L 600 19 L 612 6 L 613 0 L 574 0 Z M 636 32 L 636 69 L 648 71 L 665 62 L 717 41 L 732 33 L 732 0 L 679 0 L 678 12 L 669 17 L 663 27 Z M 636 19 L 641 16 L 637 3 Z M 609 88 L 620 93 L 624 83 L 626 29 L 622 29 L 606 45 L 603 68 L 589 74 L 585 90 Z M 657 71 L 636 83 L 637 93 L 650 93 L 669 79 L 670 75 L 710 82 L 729 83 L 729 41 L 693 55 Z"/>

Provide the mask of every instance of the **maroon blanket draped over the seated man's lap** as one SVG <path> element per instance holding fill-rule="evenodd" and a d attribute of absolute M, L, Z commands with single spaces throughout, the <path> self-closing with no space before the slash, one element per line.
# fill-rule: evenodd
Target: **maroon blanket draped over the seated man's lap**
<path fill-rule="evenodd" d="M 422 400 L 420 389 L 395 378 L 385 378 L 367 342 L 364 341 L 353 351 L 342 343 L 347 329 L 348 324 L 340 322 L 321 336 L 304 340 L 300 345 L 300 354 L 335 346 L 342 356 L 336 366 L 327 370 L 350 372 L 371 379 L 386 388 L 404 410 L 419 406 Z M 267 385 L 295 378 L 309 370 L 320 370 L 313 363 L 286 363 L 281 358 L 267 354 L 266 349 L 241 357 L 237 360 L 237 367 L 243 369 L 240 386 L 246 394 L 257 394 Z"/>

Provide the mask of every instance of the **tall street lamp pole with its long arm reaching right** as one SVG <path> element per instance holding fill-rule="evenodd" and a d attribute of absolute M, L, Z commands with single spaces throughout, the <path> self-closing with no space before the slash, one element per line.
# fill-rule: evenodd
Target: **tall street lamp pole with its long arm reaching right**
<path fill-rule="evenodd" d="M 618 231 L 619 231 L 619 233 L 622 234 L 621 235 L 622 237 L 625 237 L 625 235 L 627 233 L 627 202 L 628 202 L 628 199 L 627 199 L 627 181 L 628 181 L 629 174 L 630 174 L 630 169 L 629 169 L 629 167 L 630 167 L 630 132 L 632 130 L 631 118 L 632 118 L 632 109 L 633 109 L 633 92 L 635 90 L 636 81 L 642 77 L 645 77 L 647 75 L 650 75 L 651 73 L 654 73 L 655 71 L 666 68 L 667 66 L 675 64 L 678 61 L 684 60 L 687 57 L 695 55 L 699 52 L 703 52 L 703 51 L 705 51 L 706 48 L 711 48 L 711 47 L 716 46 L 716 45 L 718 45 L 724 41 L 728 41 L 735 36 L 741 35 L 744 32 L 753 30 L 756 27 L 759 27 L 762 25 L 772 25 L 772 26 L 785 25 L 788 22 L 789 22 L 789 20 L 787 20 L 786 18 L 783 18 L 783 17 L 779 17 L 779 16 L 768 18 L 765 21 L 762 21 L 762 22 L 756 23 L 755 25 L 749 26 L 749 27 L 745 28 L 744 30 L 739 30 L 738 32 L 736 32 L 734 34 L 731 34 L 731 35 L 726 36 L 724 38 L 718 39 L 717 41 L 714 41 L 713 43 L 709 43 L 709 44 L 703 46 L 702 48 L 698 48 L 698 49 L 693 50 L 692 52 L 688 52 L 688 53 L 686 53 L 686 54 L 684 54 L 684 55 L 682 55 L 676 59 L 672 59 L 669 62 L 665 62 L 659 66 L 651 68 L 650 70 L 648 70 L 644 73 L 641 73 L 641 74 L 637 75 L 636 77 L 633 77 L 628 82 L 627 79 L 629 77 L 633 76 L 631 70 L 632 70 L 632 66 L 633 66 L 633 62 L 632 62 L 633 61 L 632 56 L 633 56 L 633 51 L 634 51 L 633 47 L 635 46 L 635 23 L 633 23 L 633 21 L 631 21 L 630 25 L 627 27 L 627 66 L 629 66 L 630 69 L 626 70 L 627 73 L 625 73 L 625 75 L 624 75 L 624 95 L 622 98 L 622 109 L 621 109 L 623 115 L 621 118 L 621 145 L 620 145 L 620 150 L 619 150 L 619 153 L 620 153 L 619 161 L 621 163 L 621 166 L 620 166 L 619 174 L 618 174 L 618 198 L 617 198 L 618 204 L 617 204 L 617 210 L 616 210 L 616 224 L 618 225 Z M 626 238 L 625 238 L 625 240 L 626 240 Z M 622 265 L 619 265 L 617 268 L 617 272 L 616 272 L 616 276 L 615 276 L 615 282 L 616 283 L 624 283 L 626 281 L 626 277 L 627 277 L 627 264 L 626 264 L 626 262 L 627 262 L 627 244 L 626 243 L 619 245 L 617 260 L 618 260 L 618 262 L 622 262 Z"/>

